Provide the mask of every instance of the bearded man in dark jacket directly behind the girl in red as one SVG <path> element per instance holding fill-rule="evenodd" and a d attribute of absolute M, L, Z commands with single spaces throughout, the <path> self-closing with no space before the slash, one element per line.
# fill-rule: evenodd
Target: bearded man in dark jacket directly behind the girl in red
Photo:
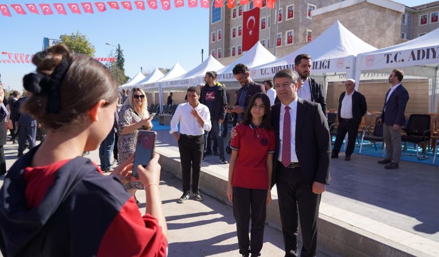
<path fill-rule="evenodd" d="M 246 112 L 247 105 L 249 104 L 252 96 L 256 93 L 265 94 L 265 87 L 262 84 L 252 81 L 252 78 L 250 78 L 249 68 L 242 63 L 236 64 L 232 72 L 235 76 L 235 79 L 241 85 L 241 88 L 236 94 L 235 107 L 233 110 L 228 110 L 228 112 L 237 113 L 237 120 L 242 121 L 244 119 L 244 113 Z"/>

